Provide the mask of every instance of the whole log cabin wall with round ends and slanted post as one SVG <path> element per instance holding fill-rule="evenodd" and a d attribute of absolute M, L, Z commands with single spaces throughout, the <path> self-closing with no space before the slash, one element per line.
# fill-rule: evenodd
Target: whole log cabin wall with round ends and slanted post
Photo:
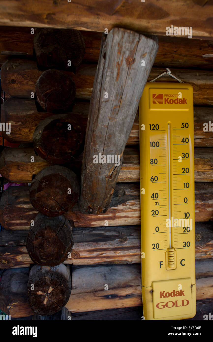
<path fill-rule="evenodd" d="M 165 67 L 194 90 L 192 319 L 213 310 L 213 42 L 201 9 L 203 40 L 164 36 L 164 19 L 145 30 L 155 36 L 137 33 L 143 25 L 131 11 L 126 29 L 107 14 L 107 35 L 100 23 L 83 30 L 76 18 L 62 29 L 57 15 L 34 34 L 15 13 L 19 27 L 0 26 L 1 124 L 10 123 L 1 132 L 0 310 L 12 318 L 143 316 L 138 103 Z M 135 63 L 142 59 L 144 68 Z M 99 153 L 120 159 L 95 164 Z"/>

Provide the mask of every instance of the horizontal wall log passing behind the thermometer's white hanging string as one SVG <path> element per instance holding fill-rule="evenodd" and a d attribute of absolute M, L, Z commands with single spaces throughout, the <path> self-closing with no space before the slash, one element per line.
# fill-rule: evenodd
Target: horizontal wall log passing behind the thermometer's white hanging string
<path fill-rule="evenodd" d="M 145 59 L 145 57 L 143 57 Z M 14 68 L 15 67 L 15 68 Z M 7 69 L 8 68 L 8 69 Z M 76 84 L 76 97 L 90 100 L 96 64 L 81 64 L 76 75 L 69 71 L 63 71 L 71 75 Z M 171 68 L 171 72 L 182 81 L 191 84 L 194 90 L 194 104 L 209 106 L 213 104 L 213 71 Z M 153 67 L 148 81 L 162 74 L 165 68 Z M 12 97 L 30 98 L 31 92 L 35 92 L 35 84 L 42 71 L 38 70 L 35 61 L 12 59 L 5 62 L 1 68 L 2 89 Z M 166 75 L 159 82 L 176 82 Z"/>

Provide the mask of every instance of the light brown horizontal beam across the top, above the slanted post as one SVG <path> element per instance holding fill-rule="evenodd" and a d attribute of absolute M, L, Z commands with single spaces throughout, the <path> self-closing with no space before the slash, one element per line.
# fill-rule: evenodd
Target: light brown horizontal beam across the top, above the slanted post
<path fill-rule="evenodd" d="M 146 34 L 165 35 L 166 27 L 193 27 L 193 37 L 208 38 L 212 35 L 212 4 L 199 4 L 174 0 L 150 0 L 140 2 L 112 1 L 108 6 L 105 0 L 101 3 L 93 0 L 82 0 L 80 3 L 50 2 L 43 0 L 0 1 L 0 25 L 73 28 L 92 31 L 111 30 L 115 26 L 124 27 Z M 199 20 L 198 20 L 199 18 Z"/>

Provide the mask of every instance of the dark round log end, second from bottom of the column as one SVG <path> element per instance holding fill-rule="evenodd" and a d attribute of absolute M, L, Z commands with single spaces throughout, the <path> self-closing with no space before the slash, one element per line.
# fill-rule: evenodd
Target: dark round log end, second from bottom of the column
<path fill-rule="evenodd" d="M 56 266 L 69 257 L 73 244 L 72 227 L 64 216 L 49 218 L 39 213 L 28 232 L 26 247 L 34 263 Z"/>

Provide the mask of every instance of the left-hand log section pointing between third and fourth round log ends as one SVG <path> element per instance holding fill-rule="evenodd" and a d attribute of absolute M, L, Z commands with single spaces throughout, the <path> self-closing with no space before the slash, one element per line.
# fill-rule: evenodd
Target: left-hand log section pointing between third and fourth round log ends
<path fill-rule="evenodd" d="M 0 173 L 11 183 L 31 182 L 34 174 L 50 165 L 48 161 L 36 156 L 32 147 L 6 147 L 0 155 Z"/>

